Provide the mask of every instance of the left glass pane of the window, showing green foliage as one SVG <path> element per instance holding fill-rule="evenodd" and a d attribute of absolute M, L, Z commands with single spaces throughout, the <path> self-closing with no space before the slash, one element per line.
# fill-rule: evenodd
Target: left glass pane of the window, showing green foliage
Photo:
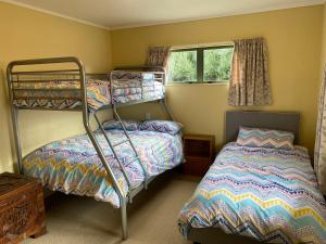
<path fill-rule="evenodd" d="M 197 51 L 172 52 L 168 78 L 174 82 L 197 81 Z"/>

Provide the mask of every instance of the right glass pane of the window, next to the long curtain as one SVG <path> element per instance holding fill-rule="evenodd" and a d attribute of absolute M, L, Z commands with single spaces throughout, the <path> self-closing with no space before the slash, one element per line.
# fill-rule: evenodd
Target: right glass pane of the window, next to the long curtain
<path fill-rule="evenodd" d="M 228 81 L 234 48 L 204 50 L 203 81 Z"/>

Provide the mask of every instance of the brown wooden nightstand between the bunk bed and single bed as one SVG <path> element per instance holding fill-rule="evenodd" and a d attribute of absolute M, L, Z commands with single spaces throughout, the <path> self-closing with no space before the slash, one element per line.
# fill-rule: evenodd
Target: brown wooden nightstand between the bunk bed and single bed
<path fill-rule="evenodd" d="M 183 172 L 204 176 L 215 159 L 215 137 L 206 134 L 185 134 L 185 158 Z"/>

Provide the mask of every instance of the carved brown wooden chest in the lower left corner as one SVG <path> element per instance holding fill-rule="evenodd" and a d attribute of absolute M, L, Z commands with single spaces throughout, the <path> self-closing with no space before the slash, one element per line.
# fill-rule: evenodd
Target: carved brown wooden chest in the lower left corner
<path fill-rule="evenodd" d="M 46 232 L 42 185 L 35 178 L 0 174 L 0 244 Z"/>

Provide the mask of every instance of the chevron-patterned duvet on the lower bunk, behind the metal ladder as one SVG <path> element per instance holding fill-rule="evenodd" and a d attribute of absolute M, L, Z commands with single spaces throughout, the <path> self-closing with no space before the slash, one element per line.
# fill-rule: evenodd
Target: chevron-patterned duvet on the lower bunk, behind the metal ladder
<path fill-rule="evenodd" d="M 106 130 L 105 133 L 113 144 L 125 140 L 122 130 Z M 183 143 L 179 134 L 146 130 L 128 131 L 128 134 L 149 176 L 156 176 L 183 162 Z M 98 131 L 96 137 L 118 184 L 124 193 L 127 193 L 127 182 L 104 136 Z M 131 185 L 139 185 L 145 180 L 145 174 L 138 160 L 130 163 L 135 157 L 130 145 L 124 143 L 115 149 L 125 165 Z M 23 171 L 24 175 L 41 179 L 43 185 L 50 190 L 93 196 L 96 200 L 110 202 L 114 207 L 120 207 L 118 195 L 87 134 L 54 141 L 35 150 L 23 159 Z"/>

